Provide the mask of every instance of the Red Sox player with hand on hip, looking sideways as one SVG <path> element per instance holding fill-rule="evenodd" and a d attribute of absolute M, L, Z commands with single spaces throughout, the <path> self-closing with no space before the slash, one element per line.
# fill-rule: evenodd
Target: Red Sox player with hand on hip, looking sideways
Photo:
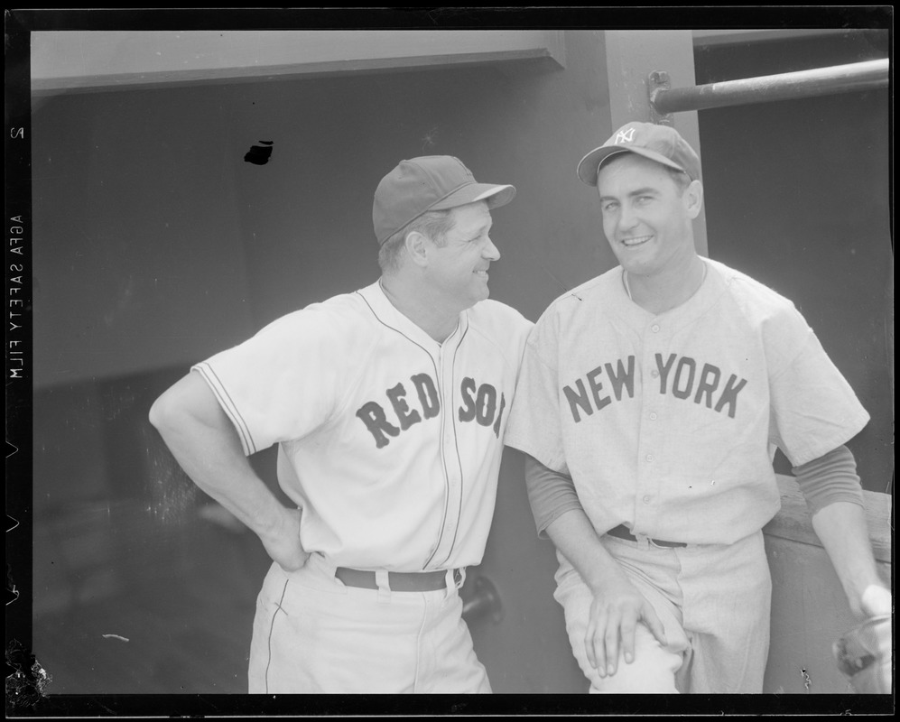
<path fill-rule="evenodd" d="M 462 619 L 531 322 L 487 300 L 510 185 L 401 162 L 373 219 L 382 276 L 194 366 L 151 420 L 256 532 L 250 692 L 489 692 Z M 278 445 L 285 508 L 246 457 Z"/>

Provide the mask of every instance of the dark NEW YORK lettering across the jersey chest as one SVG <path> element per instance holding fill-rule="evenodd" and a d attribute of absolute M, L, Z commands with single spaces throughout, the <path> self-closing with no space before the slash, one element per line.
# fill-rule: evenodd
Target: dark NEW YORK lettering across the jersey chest
<path fill-rule="evenodd" d="M 705 405 L 719 413 L 727 413 L 731 419 L 738 412 L 738 393 L 747 385 L 746 378 L 726 374 L 719 366 L 701 362 L 691 356 L 655 354 L 659 372 L 659 393 L 671 393 L 677 399 Z M 699 369 L 699 370 L 698 370 Z M 603 377 L 608 379 L 604 385 Z M 569 402 L 572 419 L 578 423 L 581 414 L 590 416 L 601 411 L 613 401 L 622 401 L 623 395 L 635 397 L 635 356 L 624 361 L 603 363 L 587 372 L 572 384 L 562 387 Z M 611 393 L 610 393 L 611 392 Z"/>

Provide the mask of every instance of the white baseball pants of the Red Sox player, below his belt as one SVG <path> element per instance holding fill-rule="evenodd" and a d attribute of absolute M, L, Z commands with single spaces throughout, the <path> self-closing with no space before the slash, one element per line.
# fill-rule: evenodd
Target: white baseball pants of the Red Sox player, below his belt
<path fill-rule="evenodd" d="M 461 615 L 456 584 L 354 588 L 320 554 L 294 572 L 273 563 L 256 600 L 249 691 L 489 693 Z"/>

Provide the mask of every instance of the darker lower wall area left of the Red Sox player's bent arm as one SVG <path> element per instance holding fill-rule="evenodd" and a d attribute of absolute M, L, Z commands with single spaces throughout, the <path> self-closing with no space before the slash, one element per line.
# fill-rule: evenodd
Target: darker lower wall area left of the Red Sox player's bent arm
<path fill-rule="evenodd" d="M 34 394 L 32 643 L 48 694 L 246 692 L 269 559 L 147 421 L 182 373 Z M 251 462 L 274 479 L 273 453 Z"/>

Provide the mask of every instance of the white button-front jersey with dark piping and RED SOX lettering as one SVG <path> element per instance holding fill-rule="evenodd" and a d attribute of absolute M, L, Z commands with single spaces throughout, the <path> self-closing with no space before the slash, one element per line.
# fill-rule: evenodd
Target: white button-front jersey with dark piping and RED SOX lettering
<path fill-rule="evenodd" d="M 380 282 L 275 320 L 194 366 L 247 455 L 279 445 L 301 542 L 337 566 L 478 564 L 532 324 L 497 301 L 436 342 Z"/>

